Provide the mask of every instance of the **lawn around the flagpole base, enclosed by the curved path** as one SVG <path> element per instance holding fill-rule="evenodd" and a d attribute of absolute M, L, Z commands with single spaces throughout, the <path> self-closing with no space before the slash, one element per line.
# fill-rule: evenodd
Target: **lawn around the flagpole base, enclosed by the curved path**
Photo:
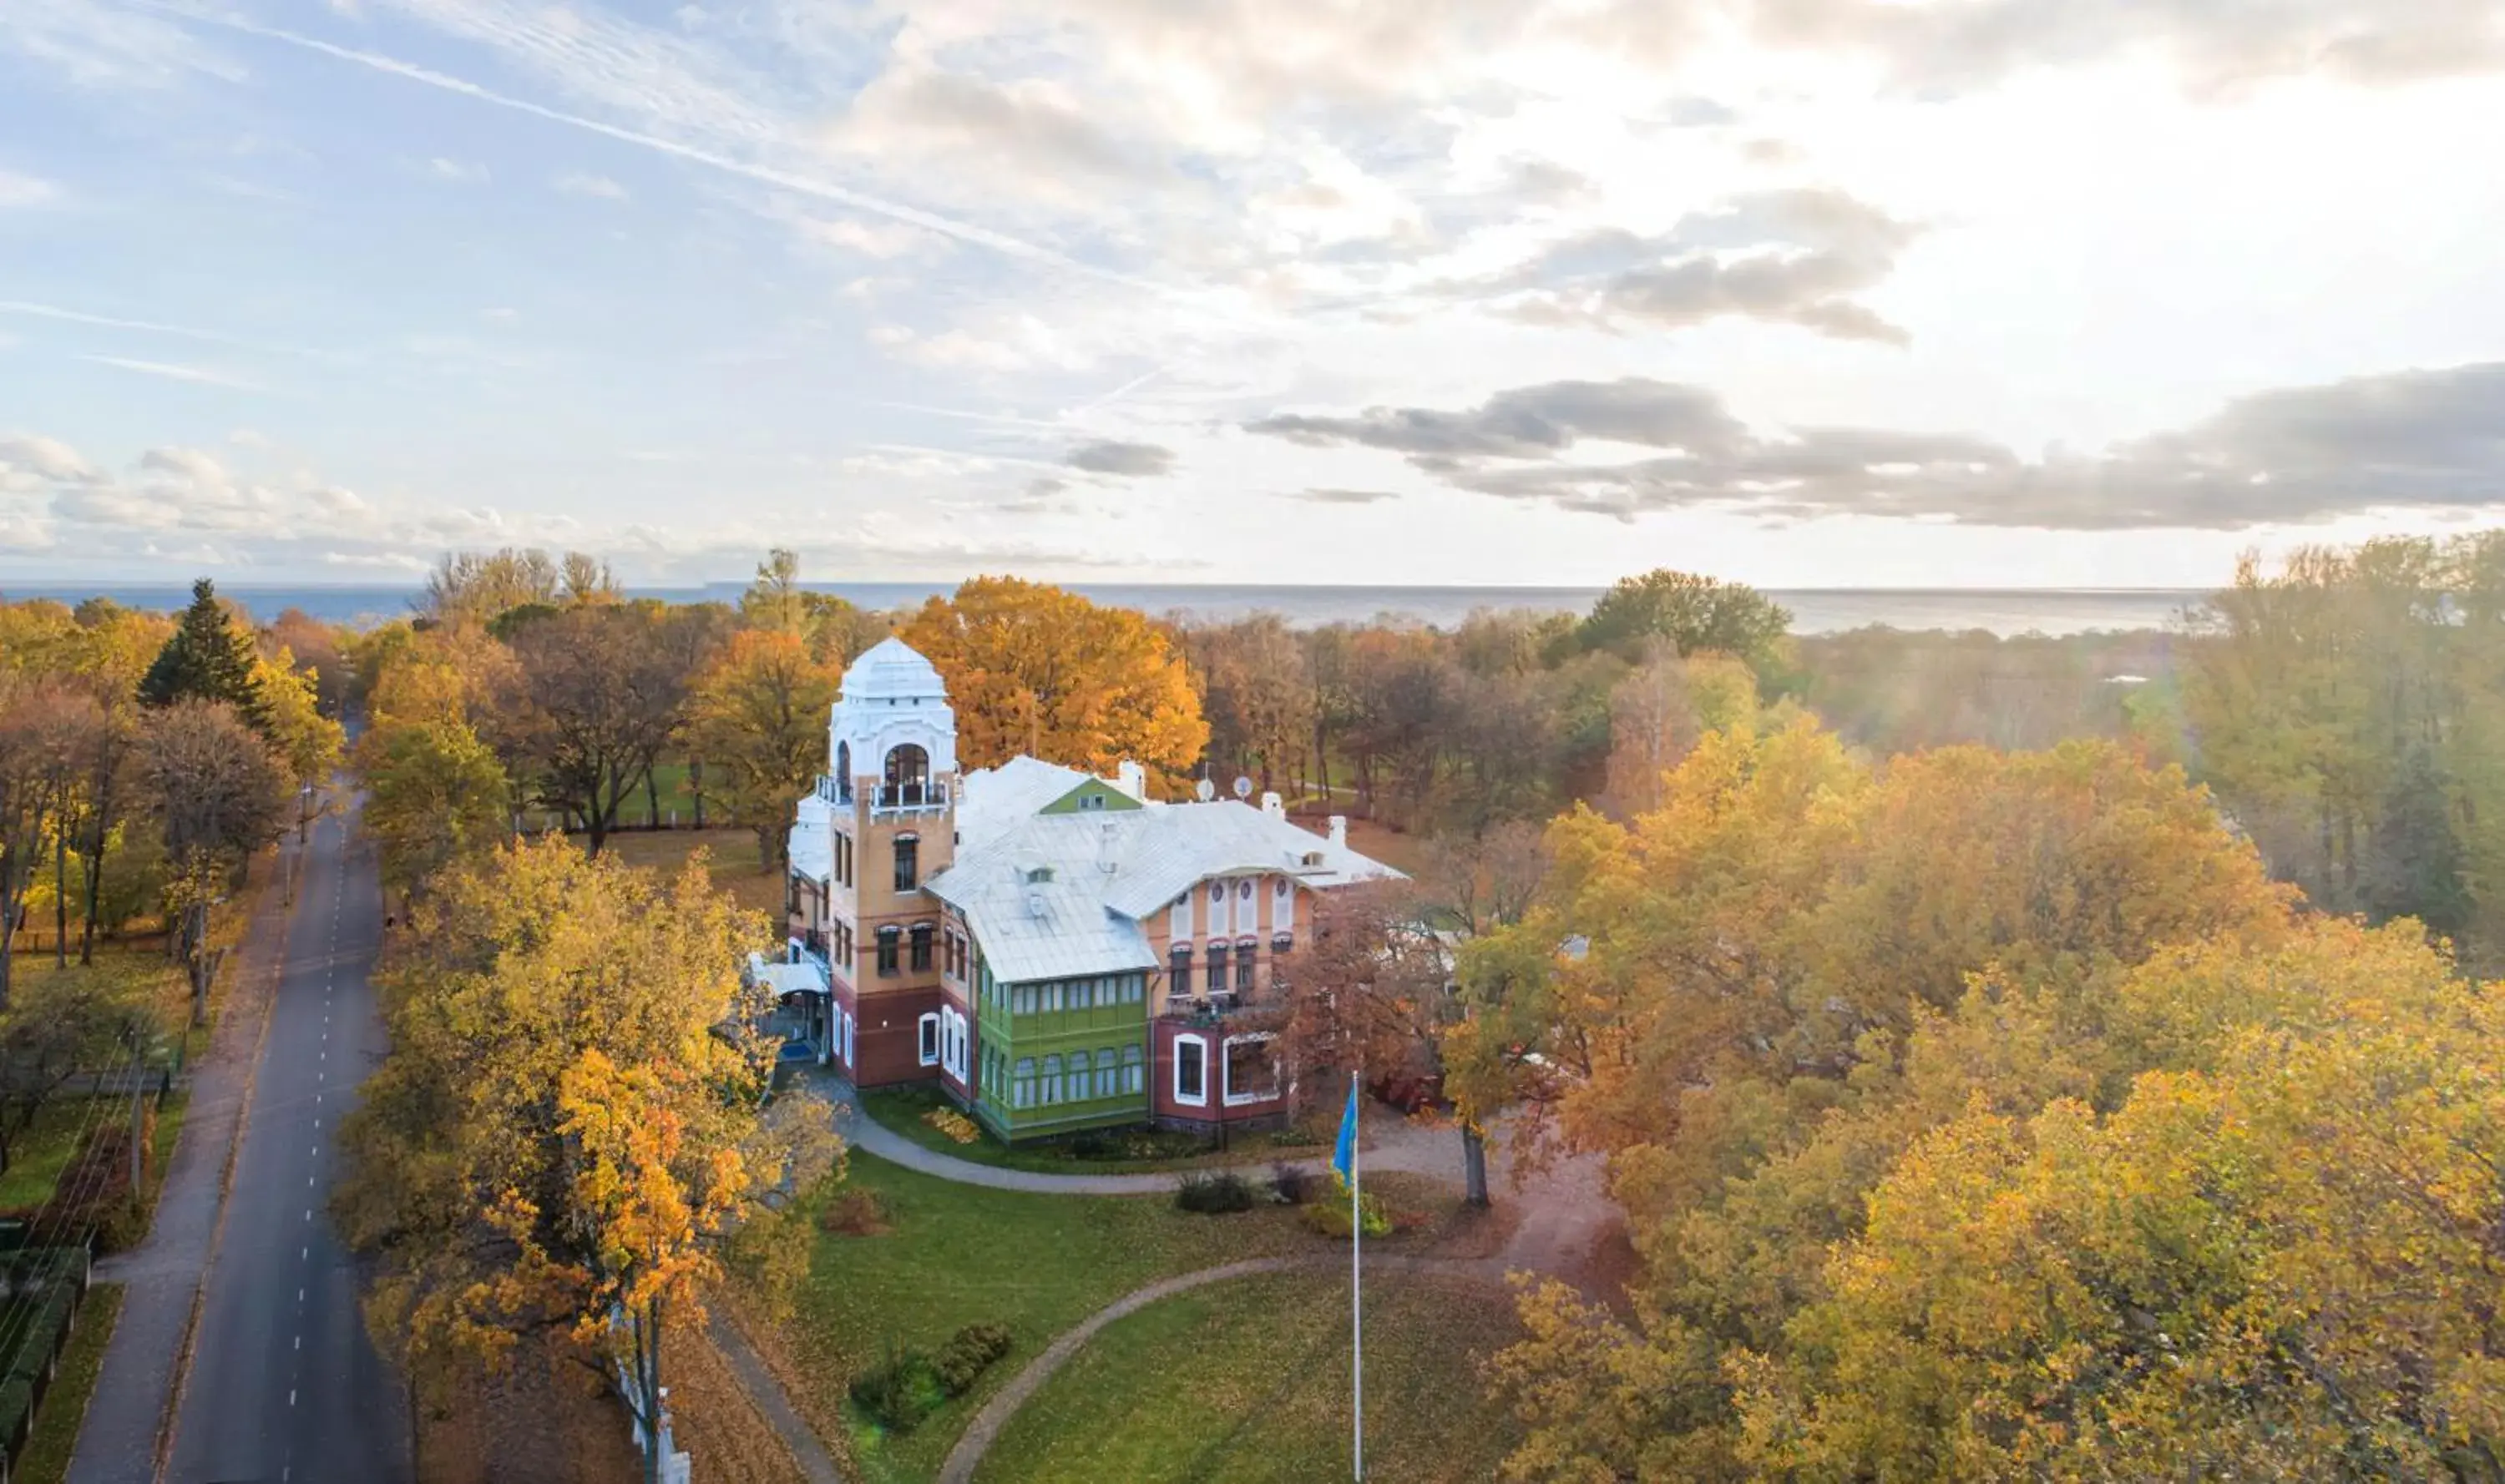
<path fill-rule="evenodd" d="M 1365 1284 L 1365 1476 L 1493 1479 L 1516 1444 L 1478 1361 L 1516 1339 L 1503 1289 Z M 1010 1419 L 977 1484 L 1348 1476 L 1348 1274 L 1192 1289 L 1107 1324 Z"/>

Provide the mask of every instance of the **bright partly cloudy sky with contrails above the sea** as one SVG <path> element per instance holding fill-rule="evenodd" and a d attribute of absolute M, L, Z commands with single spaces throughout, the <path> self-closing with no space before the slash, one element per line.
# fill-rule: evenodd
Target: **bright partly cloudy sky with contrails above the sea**
<path fill-rule="evenodd" d="M 0 583 L 2214 586 L 2500 518 L 2495 140 L 2485 0 L 0 0 Z"/>

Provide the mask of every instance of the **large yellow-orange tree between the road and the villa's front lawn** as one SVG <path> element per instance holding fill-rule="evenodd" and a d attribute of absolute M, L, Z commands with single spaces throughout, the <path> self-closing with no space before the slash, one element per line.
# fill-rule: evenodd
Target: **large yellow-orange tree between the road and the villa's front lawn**
<path fill-rule="evenodd" d="M 769 1101 L 736 968 L 762 941 L 701 858 L 664 881 L 541 838 L 443 873 L 343 1131 L 378 1341 L 418 1366 L 549 1341 L 611 1384 L 624 1359 L 651 1406 L 721 1236 L 837 1154 L 822 1101 Z"/>

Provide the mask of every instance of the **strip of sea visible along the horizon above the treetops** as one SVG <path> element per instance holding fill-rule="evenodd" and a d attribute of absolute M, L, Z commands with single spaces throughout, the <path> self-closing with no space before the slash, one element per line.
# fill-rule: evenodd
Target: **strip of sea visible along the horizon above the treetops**
<path fill-rule="evenodd" d="M 957 583 L 802 583 L 862 608 L 914 608 L 924 598 L 947 596 Z M 1463 583 L 1060 583 L 1095 603 L 1140 608 L 1157 616 L 1195 621 L 1232 621 L 1252 613 L 1278 613 L 1293 628 L 1325 623 L 1410 621 L 1453 628 L 1473 611 L 1581 613 L 1606 593 L 1606 586 L 1463 586 Z M 631 598 L 669 603 L 734 601 L 744 581 L 629 586 Z M 2187 606 L 2209 598 L 2209 588 L 1761 588 L 1794 616 L 1794 633 L 1844 633 L 1869 626 L 1904 631 L 1989 631 L 2019 633 L 2097 633 L 2164 628 Z M 423 588 L 416 583 L 218 583 L 253 618 L 268 621 L 288 608 L 326 623 L 386 623 L 411 613 Z M 180 608 L 190 583 L 95 581 L 95 583 L 13 583 L 0 581 L 0 598 L 50 598 L 78 603 L 110 598 L 128 608 Z"/>

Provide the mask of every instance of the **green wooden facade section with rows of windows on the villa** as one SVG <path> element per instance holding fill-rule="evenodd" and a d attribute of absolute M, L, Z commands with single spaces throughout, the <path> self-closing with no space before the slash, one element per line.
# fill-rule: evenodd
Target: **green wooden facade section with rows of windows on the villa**
<path fill-rule="evenodd" d="M 974 1119 L 999 1139 L 1145 1124 L 1147 973 L 1002 983 L 974 956 Z"/>

